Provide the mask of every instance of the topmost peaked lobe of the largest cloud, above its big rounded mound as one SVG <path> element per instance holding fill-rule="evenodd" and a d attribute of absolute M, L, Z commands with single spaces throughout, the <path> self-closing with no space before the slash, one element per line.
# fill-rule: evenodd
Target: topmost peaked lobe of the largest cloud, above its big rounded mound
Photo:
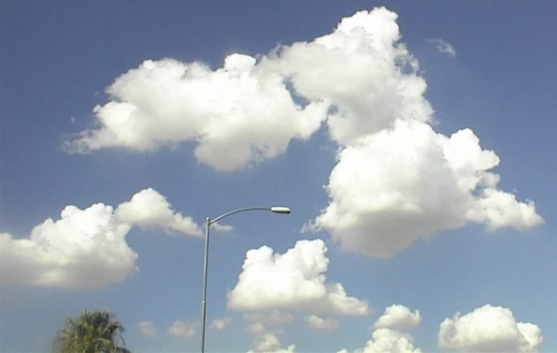
<path fill-rule="evenodd" d="M 297 94 L 329 103 L 331 137 L 349 144 L 396 119 L 431 121 L 433 109 L 417 60 L 399 42 L 398 15 L 360 11 L 311 42 L 284 46 L 275 62 Z"/>

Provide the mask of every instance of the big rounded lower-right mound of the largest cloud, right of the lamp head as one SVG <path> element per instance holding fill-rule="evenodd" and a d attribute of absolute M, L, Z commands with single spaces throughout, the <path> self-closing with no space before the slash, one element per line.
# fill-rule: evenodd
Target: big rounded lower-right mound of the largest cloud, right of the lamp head
<path fill-rule="evenodd" d="M 485 223 L 524 230 L 543 222 L 531 201 L 497 189 L 499 164 L 469 129 L 450 137 L 419 121 L 396 121 L 340 151 L 331 201 L 306 230 L 328 230 L 345 250 L 391 257 L 439 230 Z"/>

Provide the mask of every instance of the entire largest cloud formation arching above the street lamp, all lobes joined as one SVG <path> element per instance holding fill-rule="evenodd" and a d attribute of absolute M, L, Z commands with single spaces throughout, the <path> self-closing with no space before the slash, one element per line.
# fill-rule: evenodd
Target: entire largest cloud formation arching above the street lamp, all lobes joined
<path fill-rule="evenodd" d="M 193 141 L 199 162 L 232 171 L 326 125 L 339 147 L 329 205 L 304 229 L 328 231 L 344 250 L 391 257 L 467 223 L 542 223 L 532 201 L 497 188 L 499 157 L 472 130 L 433 130 L 427 83 L 397 17 L 386 8 L 356 12 L 315 40 L 258 58 L 228 55 L 214 70 L 147 60 L 108 87 L 110 101 L 94 108 L 97 126 L 65 148 L 144 151 Z"/>

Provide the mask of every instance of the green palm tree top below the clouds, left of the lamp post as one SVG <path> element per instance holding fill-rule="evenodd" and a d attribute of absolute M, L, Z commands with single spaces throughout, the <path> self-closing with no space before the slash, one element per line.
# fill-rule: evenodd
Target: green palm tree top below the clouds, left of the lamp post
<path fill-rule="evenodd" d="M 53 341 L 57 353 L 129 353 L 122 334 L 124 326 L 106 310 L 83 310 L 67 318 Z"/>

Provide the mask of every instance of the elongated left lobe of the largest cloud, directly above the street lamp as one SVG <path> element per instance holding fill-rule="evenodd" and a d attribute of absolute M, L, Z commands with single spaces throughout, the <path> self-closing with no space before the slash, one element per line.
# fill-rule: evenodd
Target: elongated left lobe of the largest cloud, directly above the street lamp
<path fill-rule="evenodd" d="M 93 110 L 98 127 L 67 141 L 67 150 L 148 151 L 194 141 L 199 162 L 242 169 L 308 138 L 326 111 L 319 102 L 294 103 L 283 76 L 241 54 L 214 71 L 199 62 L 147 60 L 106 92 L 110 101 Z"/>

